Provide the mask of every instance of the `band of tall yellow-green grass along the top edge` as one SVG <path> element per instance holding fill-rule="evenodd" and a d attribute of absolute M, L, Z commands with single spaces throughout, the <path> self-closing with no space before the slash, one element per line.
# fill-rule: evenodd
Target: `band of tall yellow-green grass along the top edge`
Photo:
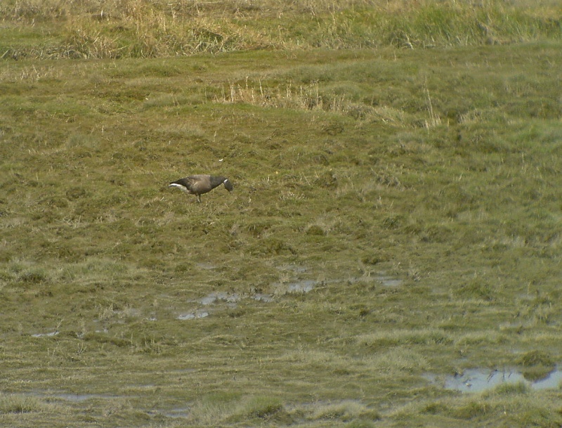
<path fill-rule="evenodd" d="M 0 5 L 6 22 L 0 30 L 0 56 L 151 58 L 264 48 L 427 48 L 560 38 L 560 7 L 531 6 L 499 0 L 12 0 Z"/>

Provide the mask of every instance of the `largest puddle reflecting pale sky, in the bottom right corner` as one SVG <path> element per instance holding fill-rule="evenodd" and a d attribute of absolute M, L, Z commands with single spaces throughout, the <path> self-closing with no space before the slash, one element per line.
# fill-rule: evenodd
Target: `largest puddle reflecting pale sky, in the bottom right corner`
<path fill-rule="evenodd" d="M 489 370 L 469 369 L 462 375 L 440 377 L 437 375 L 426 375 L 429 382 L 439 384 L 445 389 L 461 392 L 482 392 L 493 389 L 501 384 L 516 384 L 524 382 L 532 389 L 558 389 L 562 385 L 562 370 L 556 368 L 548 373 L 546 377 L 539 380 L 527 380 L 522 372 L 518 370 Z"/>

